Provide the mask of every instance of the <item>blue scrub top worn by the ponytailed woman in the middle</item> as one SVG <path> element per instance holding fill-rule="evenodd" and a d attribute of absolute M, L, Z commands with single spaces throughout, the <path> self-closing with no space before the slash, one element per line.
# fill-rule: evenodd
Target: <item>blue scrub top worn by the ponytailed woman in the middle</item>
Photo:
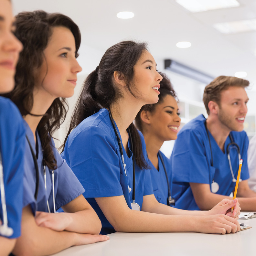
<path fill-rule="evenodd" d="M 117 128 L 117 126 L 116 126 Z M 121 135 L 117 128 L 118 134 Z M 139 132 L 143 154 L 146 157 L 146 145 L 143 135 Z M 75 175 L 86 191 L 84 197 L 94 208 L 101 219 L 101 234 L 115 232 L 113 226 L 106 219 L 94 197 L 124 196 L 131 208 L 133 189 L 133 160 L 128 141 L 130 157 L 125 152 L 127 176 L 125 176 L 117 138 L 112 127 L 107 109 L 84 119 L 70 134 L 62 152 Z M 143 196 L 153 194 L 149 170 L 141 170 L 135 163 L 135 202 L 142 207 Z"/>

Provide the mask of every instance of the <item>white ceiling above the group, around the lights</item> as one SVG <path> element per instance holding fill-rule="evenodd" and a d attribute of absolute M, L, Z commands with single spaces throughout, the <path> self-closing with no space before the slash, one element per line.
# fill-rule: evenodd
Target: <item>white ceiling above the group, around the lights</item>
<path fill-rule="evenodd" d="M 104 52 L 123 39 L 148 41 L 157 61 L 174 59 L 214 77 L 246 71 L 246 79 L 254 83 L 256 31 L 225 35 L 212 27 L 256 18 L 255 0 L 238 1 L 240 7 L 193 14 L 174 0 L 12 0 L 14 14 L 43 9 L 70 16 L 80 27 L 81 47 Z M 119 19 L 120 11 L 132 11 L 135 16 Z M 179 41 L 190 41 L 192 46 L 177 48 Z"/>

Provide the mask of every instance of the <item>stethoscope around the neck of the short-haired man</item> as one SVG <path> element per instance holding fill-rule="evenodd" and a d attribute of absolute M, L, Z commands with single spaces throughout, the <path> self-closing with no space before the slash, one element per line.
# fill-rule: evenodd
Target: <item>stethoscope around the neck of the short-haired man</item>
<path fill-rule="evenodd" d="M 207 129 L 207 126 L 206 126 L 206 121 L 205 121 L 205 129 L 206 129 L 206 132 L 207 132 L 207 136 L 208 136 L 208 141 L 209 141 L 209 145 L 210 145 L 210 151 L 211 151 L 211 166 L 213 167 L 213 157 L 212 157 L 212 149 L 211 149 L 211 141 L 210 141 L 210 136 L 209 136 L 209 133 L 208 133 L 208 129 Z M 231 175 L 232 175 L 232 182 L 236 182 L 236 179 L 235 179 L 235 176 L 234 176 L 234 172 L 233 172 L 233 168 L 232 168 L 232 165 L 231 165 L 231 160 L 230 160 L 230 149 L 231 148 L 235 148 L 237 153 L 238 153 L 238 158 L 239 158 L 239 162 L 240 162 L 240 159 L 241 159 L 241 154 L 240 154 L 240 147 L 238 144 L 236 144 L 231 136 L 231 134 L 229 134 L 229 139 L 230 139 L 230 143 L 227 145 L 227 148 L 226 148 L 226 151 L 227 151 L 227 155 L 228 155 L 228 160 L 229 160 L 229 168 L 230 168 L 230 172 L 231 172 Z M 242 181 L 241 179 L 239 179 L 239 181 Z M 212 193 L 217 193 L 219 190 L 219 184 L 217 182 L 214 181 L 214 179 L 212 180 L 212 184 L 211 184 L 211 191 Z"/>

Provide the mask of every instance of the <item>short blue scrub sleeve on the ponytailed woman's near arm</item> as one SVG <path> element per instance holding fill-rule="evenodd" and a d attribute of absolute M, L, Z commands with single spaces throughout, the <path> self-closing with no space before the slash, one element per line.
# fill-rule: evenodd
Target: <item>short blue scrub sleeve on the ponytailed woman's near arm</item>
<path fill-rule="evenodd" d="M 123 195 L 120 153 L 110 131 L 99 126 L 86 127 L 68 144 L 68 153 L 70 167 L 86 189 L 86 198 Z"/>

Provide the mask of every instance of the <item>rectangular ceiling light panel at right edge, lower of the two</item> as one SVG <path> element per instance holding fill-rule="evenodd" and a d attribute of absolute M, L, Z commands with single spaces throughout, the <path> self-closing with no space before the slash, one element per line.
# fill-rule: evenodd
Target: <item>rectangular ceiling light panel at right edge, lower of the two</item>
<path fill-rule="evenodd" d="M 246 32 L 256 30 L 256 19 L 216 23 L 213 27 L 223 34 Z"/>

